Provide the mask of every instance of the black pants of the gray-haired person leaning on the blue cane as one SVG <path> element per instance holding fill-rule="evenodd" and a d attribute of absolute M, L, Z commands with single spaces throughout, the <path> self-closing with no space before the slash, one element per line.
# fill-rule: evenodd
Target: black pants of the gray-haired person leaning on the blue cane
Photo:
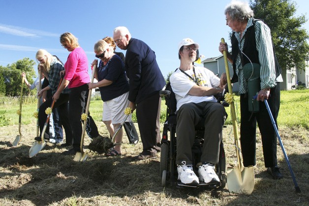
<path fill-rule="evenodd" d="M 252 97 L 251 97 L 252 98 Z M 277 117 L 280 107 L 280 85 L 271 88 L 268 104 L 277 125 Z M 265 167 L 277 166 L 277 134 L 269 117 L 265 102 L 259 101 L 260 110 L 251 114 L 248 111 L 248 97 L 246 94 L 240 95 L 241 125 L 240 142 L 243 153 L 244 166 L 255 165 L 255 141 L 256 122 L 262 137 L 263 155 Z M 251 116 L 252 115 L 252 116 Z M 277 127 L 278 128 L 278 127 Z"/>

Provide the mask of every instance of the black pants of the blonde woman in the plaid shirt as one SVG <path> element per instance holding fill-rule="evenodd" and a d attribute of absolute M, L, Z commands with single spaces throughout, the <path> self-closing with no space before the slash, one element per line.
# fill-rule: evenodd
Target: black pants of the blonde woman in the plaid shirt
<path fill-rule="evenodd" d="M 71 143 L 73 134 L 72 134 L 72 128 L 69 121 L 69 114 L 68 114 L 68 100 L 69 100 L 69 94 L 60 94 L 59 99 L 54 104 L 54 108 L 58 108 L 60 119 L 65 131 L 65 139 L 66 143 Z M 51 107 L 53 102 L 53 98 L 48 98 L 43 104 L 41 104 L 39 108 L 39 128 L 40 128 L 40 134 L 42 134 L 44 124 L 46 122 L 47 115 L 45 113 L 46 108 Z M 49 123 L 47 124 L 47 128 L 45 130 L 45 133 L 49 135 Z"/>

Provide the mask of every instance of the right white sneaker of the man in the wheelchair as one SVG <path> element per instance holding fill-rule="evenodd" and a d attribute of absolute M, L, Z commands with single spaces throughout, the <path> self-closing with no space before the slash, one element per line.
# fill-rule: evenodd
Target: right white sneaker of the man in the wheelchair
<path fill-rule="evenodd" d="M 208 183 L 220 183 L 219 177 L 216 175 L 215 166 L 212 164 L 205 164 L 198 167 L 199 180 Z"/>

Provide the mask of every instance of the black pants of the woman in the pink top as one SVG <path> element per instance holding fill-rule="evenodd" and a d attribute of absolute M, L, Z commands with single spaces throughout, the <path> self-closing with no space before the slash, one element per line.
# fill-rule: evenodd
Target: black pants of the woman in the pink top
<path fill-rule="evenodd" d="M 86 104 L 88 100 L 89 88 L 88 84 L 82 85 L 77 88 L 70 88 L 69 97 L 69 116 L 70 123 L 73 130 L 73 147 L 75 150 L 80 150 L 81 138 L 82 138 L 82 121 L 81 115 L 86 112 Z M 86 132 L 90 138 L 99 136 L 97 127 L 93 118 L 88 113 Z"/>

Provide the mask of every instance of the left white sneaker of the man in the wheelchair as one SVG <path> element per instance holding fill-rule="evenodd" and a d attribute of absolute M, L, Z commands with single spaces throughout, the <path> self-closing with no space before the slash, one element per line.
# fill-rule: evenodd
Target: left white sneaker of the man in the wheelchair
<path fill-rule="evenodd" d="M 187 185 L 197 185 L 199 183 L 198 177 L 194 174 L 191 165 L 185 165 L 185 161 L 182 162 L 183 165 L 177 167 L 178 179 Z"/>

